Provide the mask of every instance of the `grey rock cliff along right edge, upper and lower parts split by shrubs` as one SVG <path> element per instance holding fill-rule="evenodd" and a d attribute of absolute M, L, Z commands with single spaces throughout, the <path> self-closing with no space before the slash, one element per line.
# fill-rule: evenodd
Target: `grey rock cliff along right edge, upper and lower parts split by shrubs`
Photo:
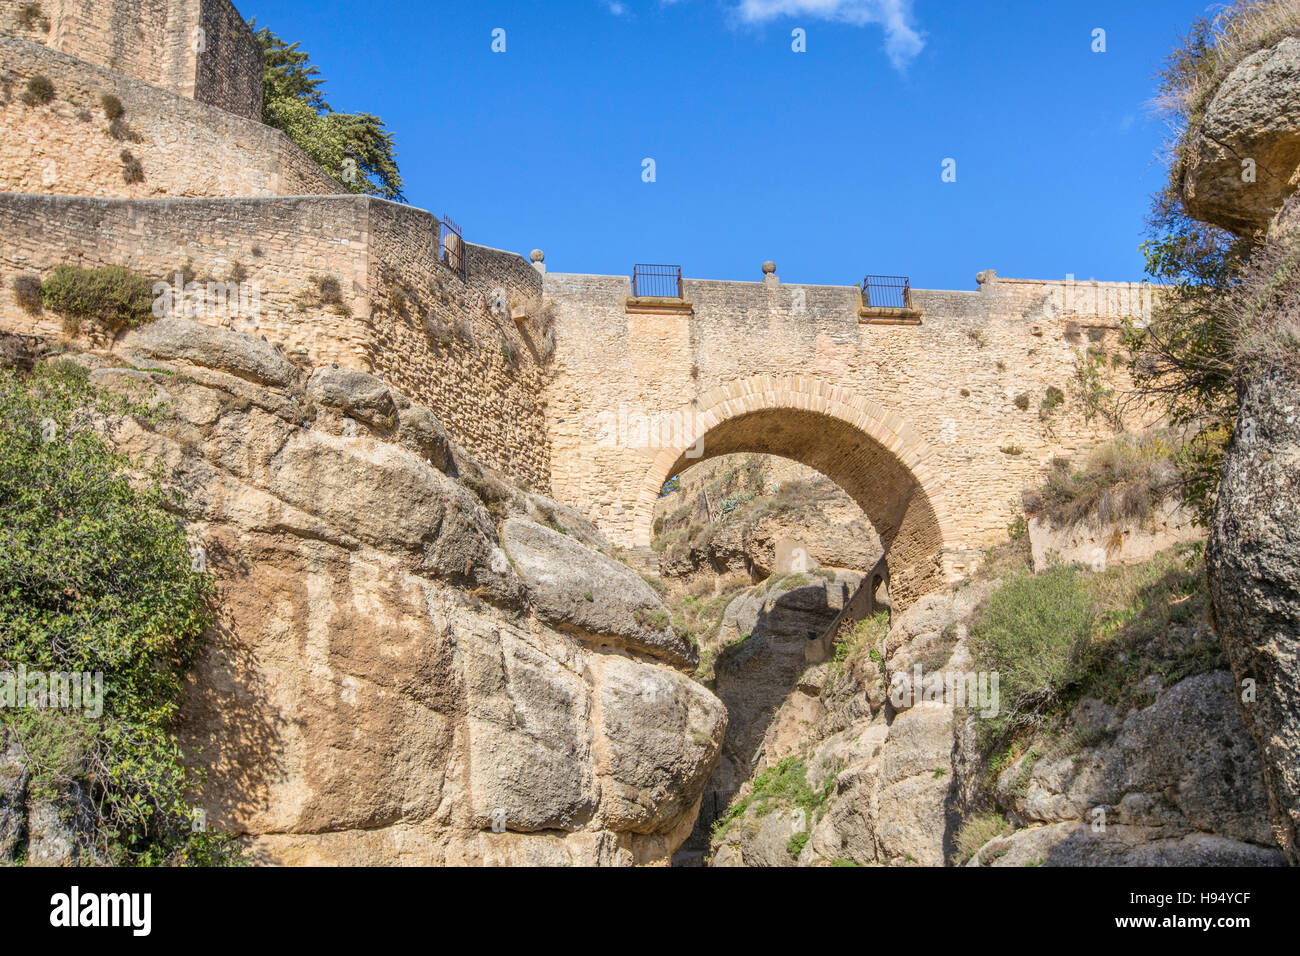
<path fill-rule="evenodd" d="M 1300 39 L 1251 56 L 1222 82 L 1192 135 L 1182 189 L 1190 212 L 1275 246 L 1300 215 Z M 1243 176 L 1249 165 L 1254 177 Z M 1264 230 L 1268 230 L 1266 233 Z M 1295 315 L 1265 315 L 1294 328 Z M 1294 349 L 1294 346 L 1292 346 Z M 1300 864 L 1300 382 L 1266 362 L 1239 382 L 1240 414 L 1209 541 L 1210 588 L 1242 717 L 1264 754 L 1278 838 Z"/>

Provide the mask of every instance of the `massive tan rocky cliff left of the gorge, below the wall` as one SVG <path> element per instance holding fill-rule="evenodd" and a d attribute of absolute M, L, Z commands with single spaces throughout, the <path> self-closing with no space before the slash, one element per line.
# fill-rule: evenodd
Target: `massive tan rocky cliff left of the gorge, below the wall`
<path fill-rule="evenodd" d="M 212 826 L 273 864 L 649 864 L 686 836 L 725 711 L 581 516 L 256 338 L 165 320 L 78 360 L 161 403 L 114 440 L 217 581 L 182 727 Z"/>

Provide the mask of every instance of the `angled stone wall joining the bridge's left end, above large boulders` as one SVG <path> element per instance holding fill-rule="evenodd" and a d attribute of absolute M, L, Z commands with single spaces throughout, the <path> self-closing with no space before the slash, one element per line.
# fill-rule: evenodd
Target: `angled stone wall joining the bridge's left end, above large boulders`
<path fill-rule="evenodd" d="M 0 194 L 0 235 L 3 330 L 68 334 L 60 316 L 29 315 L 13 294 L 18 276 L 46 277 L 61 264 L 125 265 L 173 286 L 177 273 L 216 289 L 234 282 L 256 308 L 218 304 L 208 291 L 194 299 L 203 303 L 194 317 L 265 336 L 304 367 L 338 363 L 384 375 L 482 462 L 523 484 L 547 485 L 545 363 L 508 315 L 489 308 L 498 287 L 520 302 L 532 295 L 536 307 L 541 278 L 517 255 L 467 243 L 463 280 L 439 261 L 438 221 L 428 212 L 369 196 Z M 321 295 L 321 278 L 338 282 L 339 302 Z M 90 326 L 78 334 L 107 343 Z"/>

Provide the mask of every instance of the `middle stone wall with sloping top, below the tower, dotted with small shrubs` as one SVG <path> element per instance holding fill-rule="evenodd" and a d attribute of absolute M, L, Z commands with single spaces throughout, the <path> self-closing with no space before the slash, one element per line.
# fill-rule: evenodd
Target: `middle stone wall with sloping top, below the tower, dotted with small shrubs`
<path fill-rule="evenodd" d="M 55 99 L 21 94 L 42 74 Z M 105 94 L 125 112 L 114 124 Z M 280 130 L 66 53 L 0 35 L 0 190 L 88 196 L 270 196 L 343 191 Z M 143 181 L 127 182 L 126 151 Z"/>

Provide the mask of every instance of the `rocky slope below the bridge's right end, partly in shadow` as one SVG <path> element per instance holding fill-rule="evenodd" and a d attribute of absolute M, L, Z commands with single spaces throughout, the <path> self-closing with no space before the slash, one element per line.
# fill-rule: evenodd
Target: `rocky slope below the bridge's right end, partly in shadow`
<path fill-rule="evenodd" d="M 1149 679 L 1124 704 L 1086 697 L 1010 761 L 982 749 L 978 701 L 907 693 L 916 667 L 927 682 L 971 672 L 968 626 L 998 585 L 930 594 L 885 635 L 806 669 L 714 835 L 712 865 L 1283 862 L 1225 670 Z M 1162 641 L 1166 654 L 1186 646 Z M 1127 665 L 1114 666 L 1121 679 Z"/>

